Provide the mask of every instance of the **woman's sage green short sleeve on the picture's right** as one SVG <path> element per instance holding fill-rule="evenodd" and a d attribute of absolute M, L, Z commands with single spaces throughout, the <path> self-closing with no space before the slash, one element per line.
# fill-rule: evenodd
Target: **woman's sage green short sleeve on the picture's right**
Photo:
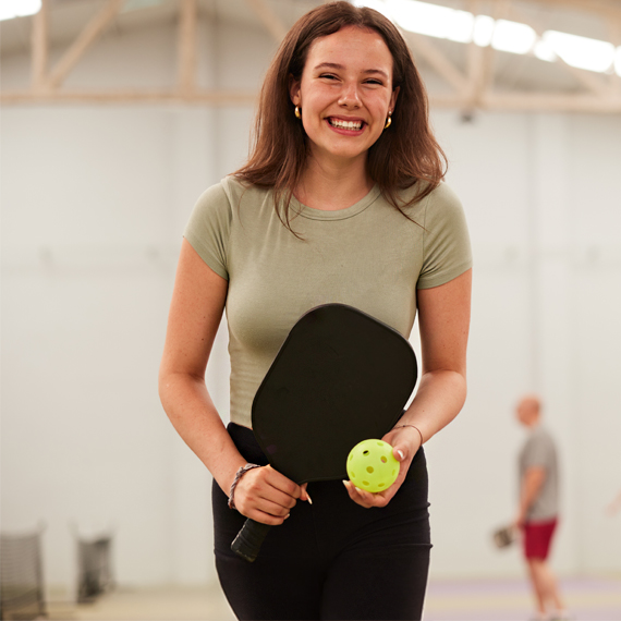
<path fill-rule="evenodd" d="M 426 199 L 423 267 L 417 289 L 439 287 L 472 267 L 470 235 L 462 204 L 441 183 Z"/>

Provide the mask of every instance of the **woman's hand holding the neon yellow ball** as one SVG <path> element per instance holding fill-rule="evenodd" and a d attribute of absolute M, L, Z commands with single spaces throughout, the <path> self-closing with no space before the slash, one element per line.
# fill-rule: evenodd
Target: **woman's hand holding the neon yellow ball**
<path fill-rule="evenodd" d="M 377 494 L 360 489 L 351 480 L 343 482 L 350 498 L 366 509 L 386 507 L 390 502 L 405 479 L 410 464 L 421 448 L 421 436 L 413 427 L 398 427 L 386 434 L 381 439 L 392 446 L 392 454 L 401 464 L 397 480 L 387 490 L 378 491 Z"/>

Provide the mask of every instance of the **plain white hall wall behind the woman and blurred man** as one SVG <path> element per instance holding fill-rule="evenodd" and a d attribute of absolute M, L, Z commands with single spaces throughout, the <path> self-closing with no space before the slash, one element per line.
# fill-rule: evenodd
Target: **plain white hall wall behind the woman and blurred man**
<path fill-rule="evenodd" d="M 259 83 L 269 37 L 208 23 L 202 34 L 203 84 Z M 96 49 L 73 86 L 172 81 L 166 28 Z M 25 71 L 26 59 L 5 58 L 2 86 Z M 1 121 L 2 529 L 45 521 L 54 584 L 73 580 L 72 521 L 113 527 L 121 583 L 214 580 L 210 477 L 168 423 L 156 378 L 184 223 L 243 160 L 252 110 L 22 106 Z M 541 392 L 562 456 L 556 565 L 619 572 L 621 519 L 604 507 L 621 488 L 621 119 L 479 113 L 464 124 L 438 111 L 434 123 L 476 268 L 468 401 L 427 446 L 433 573 L 522 571 L 489 533 L 514 512 L 523 433 L 512 410 L 527 390 Z M 224 418 L 226 346 L 221 331 L 208 369 Z"/>

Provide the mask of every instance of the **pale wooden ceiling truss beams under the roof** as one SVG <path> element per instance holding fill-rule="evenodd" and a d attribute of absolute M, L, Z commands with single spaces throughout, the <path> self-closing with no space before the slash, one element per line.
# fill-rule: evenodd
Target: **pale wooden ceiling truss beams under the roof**
<path fill-rule="evenodd" d="M 53 66 L 49 66 L 50 1 L 42 0 L 41 11 L 32 17 L 31 85 L 23 90 L 0 94 L 2 105 L 35 102 L 64 104 L 187 104 L 204 106 L 254 105 L 254 90 L 204 89 L 196 84 L 198 0 L 176 0 L 176 80 L 171 88 L 78 90 L 63 88 L 63 83 L 84 53 L 97 42 L 114 22 L 124 0 L 107 0 L 100 11 L 84 26 Z M 543 0 L 528 0 L 533 3 Z M 245 0 L 259 22 L 276 41 L 281 41 L 287 25 L 267 0 Z M 606 20 L 610 41 L 621 45 L 621 7 L 607 0 L 545 0 L 547 4 L 588 11 Z M 485 13 L 529 25 L 537 36 L 544 28 L 526 15 L 514 0 L 465 0 L 465 8 L 475 15 Z M 424 61 L 450 87 L 446 95 L 430 94 L 433 107 L 456 108 L 470 114 L 477 109 L 527 110 L 559 112 L 621 113 L 621 77 L 614 73 L 597 74 L 569 65 L 557 59 L 559 71 L 569 72 L 576 89 L 564 92 L 503 92 L 494 81 L 495 50 L 491 46 L 465 44 L 464 69 L 458 66 L 431 37 L 404 33 L 415 57 Z"/>

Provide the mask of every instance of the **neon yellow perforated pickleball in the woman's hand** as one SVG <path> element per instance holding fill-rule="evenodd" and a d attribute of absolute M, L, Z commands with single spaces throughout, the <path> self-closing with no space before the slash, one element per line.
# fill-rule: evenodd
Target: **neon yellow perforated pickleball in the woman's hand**
<path fill-rule="evenodd" d="M 397 480 L 400 466 L 392 454 L 392 447 L 383 440 L 363 440 L 348 456 L 350 480 L 374 494 L 388 489 Z"/>

